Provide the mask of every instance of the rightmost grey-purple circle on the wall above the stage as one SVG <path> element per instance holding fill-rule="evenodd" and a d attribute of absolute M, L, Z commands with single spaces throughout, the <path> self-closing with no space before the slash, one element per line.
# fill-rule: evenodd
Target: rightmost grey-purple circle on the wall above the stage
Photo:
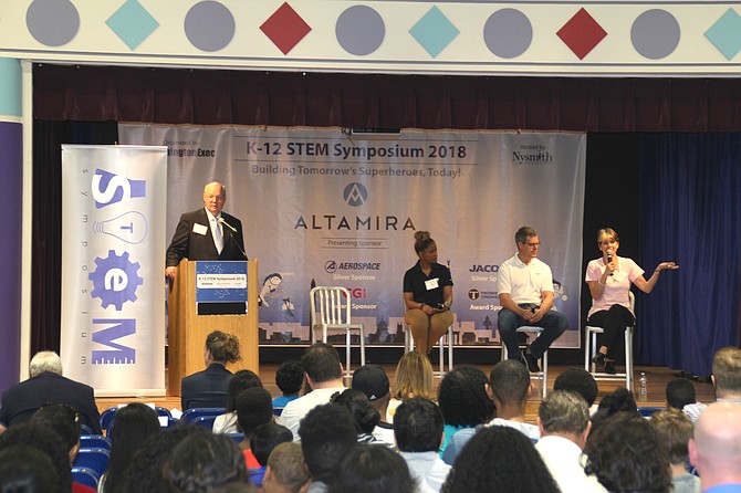
<path fill-rule="evenodd" d="M 630 28 L 633 48 L 651 60 L 670 55 L 679 44 L 677 19 L 666 10 L 651 9 L 638 15 Z"/>

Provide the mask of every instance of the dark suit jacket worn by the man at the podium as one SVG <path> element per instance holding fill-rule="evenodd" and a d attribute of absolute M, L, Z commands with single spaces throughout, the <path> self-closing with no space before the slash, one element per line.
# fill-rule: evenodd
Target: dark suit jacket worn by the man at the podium
<path fill-rule="evenodd" d="M 231 214 L 221 212 L 221 217 L 237 232 L 233 233 L 228 227 L 223 225 L 223 249 L 221 254 L 216 250 L 211 224 L 208 220 L 206 209 L 186 212 L 180 216 L 180 222 L 173 234 L 173 241 L 167 249 L 167 266 L 177 266 L 184 258 L 188 260 L 247 260 L 242 254 L 244 251 L 244 238 L 242 235 L 242 223 Z M 196 233 L 194 224 L 201 224 L 206 228 L 205 234 Z"/>

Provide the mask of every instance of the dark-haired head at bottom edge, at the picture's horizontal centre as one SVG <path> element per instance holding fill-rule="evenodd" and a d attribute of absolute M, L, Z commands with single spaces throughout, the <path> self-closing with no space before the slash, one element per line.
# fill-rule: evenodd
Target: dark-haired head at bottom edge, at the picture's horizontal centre
<path fill-rule="evenodd" d="M 416 491 L 409 466 L 385 445 L 355 445 L 337 464 L 330 493 L 409 493 Z"/>

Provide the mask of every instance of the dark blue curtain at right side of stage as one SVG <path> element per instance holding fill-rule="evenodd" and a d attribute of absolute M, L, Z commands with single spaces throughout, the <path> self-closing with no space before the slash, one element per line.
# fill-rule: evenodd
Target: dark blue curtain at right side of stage
<path fill-rule="evenodd" d="M 638 307 L 639 358 L 707 376 L 739 345 L 741 135 L 644 134 L 639 159 L 638 263 L 680 266 Z"/>

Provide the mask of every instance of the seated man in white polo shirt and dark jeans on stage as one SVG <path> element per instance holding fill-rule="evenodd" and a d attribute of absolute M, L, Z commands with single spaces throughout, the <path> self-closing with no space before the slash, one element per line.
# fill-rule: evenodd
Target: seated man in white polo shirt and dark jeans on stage
<path fill-rule="evenodd" d="M 553 308 L 553 274 L 551 268 L 538 259 L 540 242 L 532 228 L 522 227 L 514 234 L 518 253 L 499 266 L 497 291 L 499 312 L 497 327 L 510 359 L 520 359 L 532 373 L 540 371 L 538 360 L 563 332 L 568 319 Z M 518 327 L 543 327 L 541 335 L 520 352 Z"/>

